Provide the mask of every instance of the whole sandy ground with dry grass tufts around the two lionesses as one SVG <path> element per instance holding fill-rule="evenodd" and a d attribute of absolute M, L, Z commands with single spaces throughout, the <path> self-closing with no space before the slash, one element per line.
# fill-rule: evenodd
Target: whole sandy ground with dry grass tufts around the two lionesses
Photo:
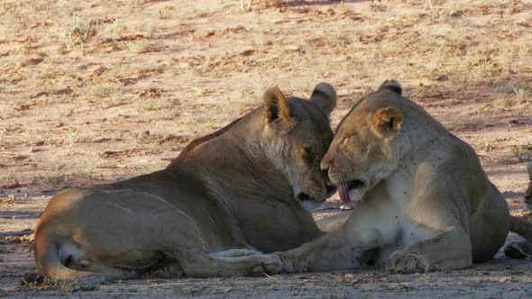
<path fill-rule="evenodd" d="M 24 285 L 50 196 L 166 166 L 261 104 L 265 87 L 339 102 L 387 78 L 472 144 L 512 213 L 532 159 L 527 1 L 14 1 L 0 3 L 0 296 L 531 297 L 529 260 L 462 271 L 365 269 L 253 278 Z M 336 213 L 333 204 L 316 218 Z M 510 238 L 517 238 L 510 236 Z"/>

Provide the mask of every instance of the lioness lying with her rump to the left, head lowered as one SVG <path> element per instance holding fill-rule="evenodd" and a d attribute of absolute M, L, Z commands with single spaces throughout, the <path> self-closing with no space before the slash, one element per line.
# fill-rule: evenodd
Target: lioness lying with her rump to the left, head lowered
<path fill-rule="evenodd" d="M 167 260 L 187 276 L 242 276 L 250 262 L 271 258 L 226 257 L 292 249 L 320 236 L 303 207 L 335 191 L 319 168 L 333 138 L 335 90 L 321 83 L 306 101 L 272 87 L 263 101 L 191 142 L 164 170 L 55 195 L 35 231 L 39 272 L 123 279 Z M 223 252 L 209 254 L 215 251 Z"/>

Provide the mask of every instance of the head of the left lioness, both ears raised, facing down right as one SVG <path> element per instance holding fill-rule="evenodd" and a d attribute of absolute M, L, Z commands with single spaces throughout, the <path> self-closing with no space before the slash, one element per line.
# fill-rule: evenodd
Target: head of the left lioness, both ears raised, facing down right
<path fill-rule="evenodd" d="M 263 100 L 261 146 L 288 179 L 294 197 L 312 210 L 335 191 L 320 169 L 320 161 L 333 139 L 329 117 L 336 104 L 335 89 L 320 83 L 306 101 L 286 99 L 278 87 L 271 87 Z"/>

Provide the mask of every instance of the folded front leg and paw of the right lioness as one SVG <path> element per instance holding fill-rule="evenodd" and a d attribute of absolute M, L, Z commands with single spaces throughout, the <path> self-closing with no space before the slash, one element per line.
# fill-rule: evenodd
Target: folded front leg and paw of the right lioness
<path fill-rule="evenodd" d="M 393 273 L 424 273 L 469 267 L 471 240 L 462 228 L 450 228 L 393 252 L 386 269 Z"/>

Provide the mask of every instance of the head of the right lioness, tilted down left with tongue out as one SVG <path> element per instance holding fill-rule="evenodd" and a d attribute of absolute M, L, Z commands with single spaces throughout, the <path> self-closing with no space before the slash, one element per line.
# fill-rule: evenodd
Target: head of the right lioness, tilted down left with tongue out
<path fill-rule="evenodd" d="M 397 81 L 385 81 L 379 89 L 354 104 L 340 122 L 321 167 L 339 186 L 345 204 L 356 204 L 365 192 L 397 168 L 398 141 L 403 113 L 398 108 L 401 87 Z"/>

